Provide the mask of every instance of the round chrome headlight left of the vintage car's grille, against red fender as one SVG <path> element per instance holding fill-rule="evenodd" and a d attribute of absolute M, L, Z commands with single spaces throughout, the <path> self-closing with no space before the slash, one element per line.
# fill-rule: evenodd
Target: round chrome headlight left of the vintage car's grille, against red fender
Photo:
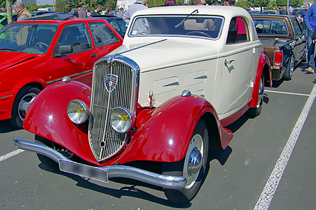
<path fill-rule="evenodd" d="M 73 123 L 81 124 L 88 119 L 88 106 L 79 100 L 73 100 L 67 106 L 67 114 Z"/>

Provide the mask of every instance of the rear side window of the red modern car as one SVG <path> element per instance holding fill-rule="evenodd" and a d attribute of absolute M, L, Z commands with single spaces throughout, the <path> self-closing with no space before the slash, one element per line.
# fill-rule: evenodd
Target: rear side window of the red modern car
<path fill-rule="evenodd" d="M 118 37 L 104 23 L 89 23 L 96 47 L 118 42 Z"/>

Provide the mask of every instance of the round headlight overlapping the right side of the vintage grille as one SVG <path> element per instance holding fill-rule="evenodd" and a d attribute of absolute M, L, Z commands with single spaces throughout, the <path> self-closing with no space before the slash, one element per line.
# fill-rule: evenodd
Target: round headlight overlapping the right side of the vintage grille
<path fill-rule="evenodd" d="M 132 126 L 131 113 L 126 108 L 116 107 L 111 111 L 110 123 L 114 130 L 125 133 Z"/>

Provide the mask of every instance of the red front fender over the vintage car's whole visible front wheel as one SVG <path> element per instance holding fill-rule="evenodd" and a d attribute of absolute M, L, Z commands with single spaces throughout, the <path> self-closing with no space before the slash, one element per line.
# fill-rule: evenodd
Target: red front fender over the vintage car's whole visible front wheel
<path fill-rule="evenodd" d="M 187 153 L 200 118 L 206 121 L 205 124 L 208 124 L 207 120 L 215 122 L 212 131 L 217 132 L 225 148 L 233 134 L 222 127 L 214 107 L 199 96 L 177 96 L 155 109 L 144 109 L 138 113 L 137 131 L 116 161 L 121 164 L 135 160 L 181 160 Z"/>

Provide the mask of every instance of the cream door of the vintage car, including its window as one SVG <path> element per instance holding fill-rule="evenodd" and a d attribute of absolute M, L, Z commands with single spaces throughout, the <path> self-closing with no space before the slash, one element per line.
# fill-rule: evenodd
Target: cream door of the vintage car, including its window
<path fill-rule="evenodd" d="M 244 23 L 244 34 L 241 33 L 241 39 L 236 27 L 238 22 L 242 23 L 240 21 Z M 218 114 L 234 113 L 248 102 L 253 87 L 254 55 L 255 48 L 246 21 L 241 17 L 233 18 L 224 46 Z"/>

